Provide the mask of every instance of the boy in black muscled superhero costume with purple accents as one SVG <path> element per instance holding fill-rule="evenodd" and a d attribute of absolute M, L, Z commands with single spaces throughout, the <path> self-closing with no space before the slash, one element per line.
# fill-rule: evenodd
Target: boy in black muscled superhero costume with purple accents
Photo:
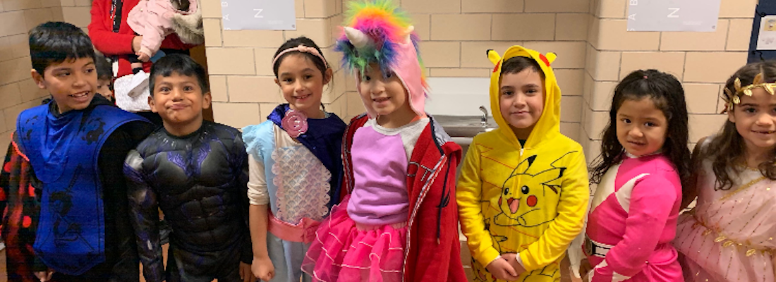
<path fill-rule="evenodd" d="M 126 156 L 124 174 L 148 282 L 252 280 L 248 155 L 237 129 L 203 120 L 210 91 L 202 66 L 170 54 L 151 67 L 152 112 L 164 126 Z M 171 225 L 163 269 L 159 212 Z"/>

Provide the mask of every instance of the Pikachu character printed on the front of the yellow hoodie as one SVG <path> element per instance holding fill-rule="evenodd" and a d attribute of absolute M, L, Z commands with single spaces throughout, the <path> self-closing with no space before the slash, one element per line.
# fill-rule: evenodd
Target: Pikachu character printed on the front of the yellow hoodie
<path fill-rule="evenodd" d="M 531 170 L 532 164 L 537 157 L 529 156 L 523 160 L 504 181 L 501 197 L 498 198 L 501 213 L 494 217 L 496 225 L 535 227 L 555 218 L 554 214 L 542 212 L 542 208 L 545 205 L 556 205 L 559 201 L 566 167 L 553 166 L 558 162 L 555 160 L 546 170 L 532 174 L 535 171 Z"/>

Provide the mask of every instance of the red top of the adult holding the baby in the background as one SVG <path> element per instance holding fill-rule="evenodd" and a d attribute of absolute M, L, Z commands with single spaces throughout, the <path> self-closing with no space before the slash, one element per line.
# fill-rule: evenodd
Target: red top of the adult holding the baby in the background
<path fill-rule="evenodd" d="M 94 0 L 92 2 L 92 22 L 89 23 L 89 38 L 95 48 L 106 56 L 119 56 L 119 71 L 116 77 L 123 77 L 126 74 L 132 74 L 130 61 L 126 60 L 129 55 L 134 56 L 132 51 L 132 40 L 135 32 L 126 23 L 130 10 L 132 10 L 140 0 L 122 0 L 121 26 L 118 33 L 113 33 L 113 17 L 110 11 L 112 0 Z M 161 42 L 161 48 L 188 50 L 194 45 L 182 43 L 175 33 L 165 37 Z M 143 64 L 144 71 L 151 71 L 151 63 Z"/>

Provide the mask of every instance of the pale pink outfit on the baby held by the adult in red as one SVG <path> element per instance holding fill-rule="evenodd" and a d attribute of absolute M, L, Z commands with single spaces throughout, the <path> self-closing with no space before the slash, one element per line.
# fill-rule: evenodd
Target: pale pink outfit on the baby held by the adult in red
<path fill-rule="evenodd" d="M 188 11 L 179 11 L 170 0 L 142 0 L 130 11 L 126 22 L 135 33 L 143 36 L 140 52 L 153 57 L 161 46 L 161 41 L 171 33 L 172 17 L 176 13 L 189 15 L 196 12 L 196 1 L 190 1 Z"/>

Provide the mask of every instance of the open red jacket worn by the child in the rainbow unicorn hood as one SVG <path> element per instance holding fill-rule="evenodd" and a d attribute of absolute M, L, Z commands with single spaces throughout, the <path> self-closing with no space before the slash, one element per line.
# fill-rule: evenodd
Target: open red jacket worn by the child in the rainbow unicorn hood
<path fill-rule="evenodd" d="M 350 149 L 355 129 L 369 120 L 360 115 L 345 129 L 342 160 L 345 175 L 342 197 L 353 189 Z M 411 211 L 407 215 L 407 248 L 404 253 L 404 281 L 466 282 L 461 263 L 456 202 L 456 167 L 461 146 L 431 119 L 415 143 L 407 166 L 407 194 Z"/>

